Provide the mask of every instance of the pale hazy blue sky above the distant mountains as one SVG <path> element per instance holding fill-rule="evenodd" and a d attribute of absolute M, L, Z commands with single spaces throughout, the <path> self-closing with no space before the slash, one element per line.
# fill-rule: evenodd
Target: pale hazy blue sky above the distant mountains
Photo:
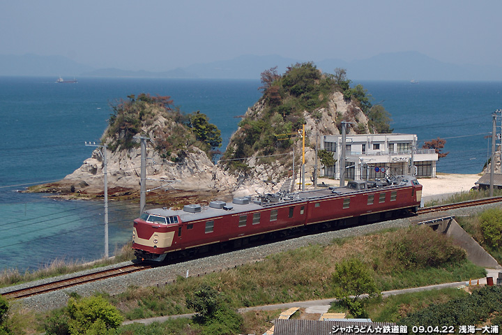
<path fill-rule="evenodd" d="M 417 51 L 502 66 L 502 1 L 0 1 L 0 54 L 172 70 L 277 54 L 301 61 Z"/>

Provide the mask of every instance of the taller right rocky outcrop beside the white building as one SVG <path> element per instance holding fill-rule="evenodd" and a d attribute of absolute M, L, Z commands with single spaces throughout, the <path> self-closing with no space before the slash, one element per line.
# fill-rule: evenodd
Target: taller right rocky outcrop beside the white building
<path fill-rule="evenodd" d="M 284 75 L 262 73 L 264 96 L 248 108 L 232 135 L 220 166 L 238 177 L 238 194 L 252 194 L 266 183 L 278 191 L 293 170 L 298 183 L 305 126 L 305 184 L 312 183 L 315 147 L 322 135 L 390 133 L 388 113 L 372 106 L 365 90 L 349 87 L 344 70 L 321 73 L 313 64 L 296 64 Z M 294 163 L 293 163 L 294 153 Z M 318 169 L 321 164 L 318 164 Z"/>

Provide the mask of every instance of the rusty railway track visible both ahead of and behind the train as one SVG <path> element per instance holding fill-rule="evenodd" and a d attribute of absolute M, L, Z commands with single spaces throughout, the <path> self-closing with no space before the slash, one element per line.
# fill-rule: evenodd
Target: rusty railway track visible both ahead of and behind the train
<path fill-rule="evenodd" d="M 462 207 L 471 207 L 478 206 L 480 204 L 492 204 L 494 202 L 502 202 L 502 197 L 496 198 L 487 198 L 481 200 L 470 200 L 466 202 L 459 202 L 456 204 L 446 204 L 434 207 L 427 207 L 423 209 L 419 209 L 417 214 L 427 214 L 434 213 L 439 211 L 446 211 L 449 209 L 457 209 Z M 100 281 L 105 278 L 112 278 L 116 276 L 123 276 L 125 274 L 131 274 L 133 272 L 142 271 L 145 269 L 150 269 L 151 265 L 126 265 L 123 267 L 118 267 L 114 269 L 107 269 L 96 271 L 92 274 L 84 274 L 80 276 L 75 276 L 73 278 L 61 279 L 58 281 L 53 281 L 51 283 L 45 283 L 40 285 L 34 285 L 29 288 L 21 288 L 17 290 L 12 290 L 9 292 L 3 293 L 3 297 L 8 299 L 21 299 L 24 297 L 30 297 L 32 295 L 40 295 L 46 292 L 52 292 L 55 290 L 61 290 L 63 288 L 70 288 L 75 285 L 80 285 L 83 283 L 91 283 L 93 281 Z"/>

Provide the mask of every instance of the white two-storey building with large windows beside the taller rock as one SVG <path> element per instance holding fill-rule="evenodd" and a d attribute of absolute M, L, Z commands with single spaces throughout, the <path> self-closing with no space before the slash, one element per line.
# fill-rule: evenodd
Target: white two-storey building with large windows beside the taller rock
<path fill-rule="evenodd" d="M 416 135 L 362 134 L 346 137 L 346 166 L 342 169 L 342 135 L 324 135 L 321 149 L 333 153 L 335 165 L 324 167 L 324 175 L 340 179 L 375 179 L 386 175 L 414 174 L 436 177 L 438 155 L 434 149 L 417 149 Z M 411 168 L 411 161 L 415 168 Z M 322 174 L 323 171 L 321 171 Z"/>

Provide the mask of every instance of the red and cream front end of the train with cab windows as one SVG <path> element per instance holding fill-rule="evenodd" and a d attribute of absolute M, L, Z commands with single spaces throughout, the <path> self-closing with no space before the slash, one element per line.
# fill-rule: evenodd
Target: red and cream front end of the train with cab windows
<path fill-rule="evenodd" d="M 173 240 L 181 220 L 145 211 L 134 221 L 132 248 L 138 260 L 161 262 L 174 249 Z"/>

